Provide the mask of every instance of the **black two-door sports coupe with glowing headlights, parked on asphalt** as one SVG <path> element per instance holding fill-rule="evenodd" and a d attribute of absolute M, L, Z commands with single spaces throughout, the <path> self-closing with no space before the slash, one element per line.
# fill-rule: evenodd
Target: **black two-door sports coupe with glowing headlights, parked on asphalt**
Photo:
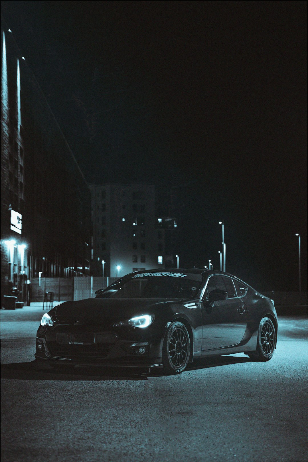
<path fill-rule="evenodd" d="M 96 298 L 64 302 L 42 317 L 37 360 L 58 365 L 163 367 L 245 353 L 272 358 L 274 302 L 228 273 L 204 269 L 127 274 Z"/>

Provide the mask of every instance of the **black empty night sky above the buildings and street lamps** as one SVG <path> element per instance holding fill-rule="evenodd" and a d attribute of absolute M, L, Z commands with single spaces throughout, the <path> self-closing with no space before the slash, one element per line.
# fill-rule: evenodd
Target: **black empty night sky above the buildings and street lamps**
<path fill-rule="evenodd" d="M 259 290 L 298 289 L 299 232 L 307 290 L 306 2 L 1 5 L 87 181 L 171 198 L 180 267 L 219 267 L 223 220 Z"/>

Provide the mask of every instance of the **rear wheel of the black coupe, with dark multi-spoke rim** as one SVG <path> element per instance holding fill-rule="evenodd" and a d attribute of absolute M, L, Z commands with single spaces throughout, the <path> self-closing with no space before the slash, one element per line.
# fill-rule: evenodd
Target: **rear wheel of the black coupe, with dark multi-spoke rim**
<path fill-rule="evenodd" d="M 271 319 L 261 319 L 258 329 L 257 350 L 248 353 L 249 358 L 256 361 L 269 361 L 272 359 L 276 345 L 276 331 Z"/>

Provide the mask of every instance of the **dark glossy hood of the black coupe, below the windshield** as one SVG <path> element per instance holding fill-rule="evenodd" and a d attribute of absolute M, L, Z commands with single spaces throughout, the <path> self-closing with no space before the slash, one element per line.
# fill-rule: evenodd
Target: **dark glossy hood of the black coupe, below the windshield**
<path fill-rule="evenodd" d="M 183 300 L 181 300 L 182 302 Z M 56 307 L 56 318 L 60 322 L 77 319 L 102 319 L 105 322 L 121 321 L 132 316 L 156 314 L 165 304 L 178 303 L 179 299 L 157 298 L 87 298 L 64 302 Z"/>

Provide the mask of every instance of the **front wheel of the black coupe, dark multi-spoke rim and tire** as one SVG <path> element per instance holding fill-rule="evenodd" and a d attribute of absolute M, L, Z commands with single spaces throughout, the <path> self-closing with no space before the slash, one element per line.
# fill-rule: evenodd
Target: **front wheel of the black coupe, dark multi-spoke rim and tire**
<path fill-rule="evenodd" d="M 163 372 L 180 374 L 187 366 L 190 338 L 187 328 L 179 321 L 171 322 L 163 340 Z"/>

